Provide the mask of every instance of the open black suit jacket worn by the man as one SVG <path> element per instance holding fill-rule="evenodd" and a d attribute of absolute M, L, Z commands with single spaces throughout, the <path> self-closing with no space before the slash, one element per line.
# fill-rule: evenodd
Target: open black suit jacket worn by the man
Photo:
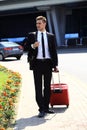
<path fill-rule="evenodd" d="M 47 39 L 48 39 L 49 52 L 52 60 L 52 68 L 55 68 L 58 65 L 55 37 L 53 34 L 47 32 Z M 30 69 L 33 69 L 35 63 L 34 61 L 38 53 L 38 48 L 33 49 L 31 47 L 31 44 L 34 44 L 35 41 L 37 41 L 37 32 L 29 33 L 28 34 L 28 62 L 30 63 Z"/>

